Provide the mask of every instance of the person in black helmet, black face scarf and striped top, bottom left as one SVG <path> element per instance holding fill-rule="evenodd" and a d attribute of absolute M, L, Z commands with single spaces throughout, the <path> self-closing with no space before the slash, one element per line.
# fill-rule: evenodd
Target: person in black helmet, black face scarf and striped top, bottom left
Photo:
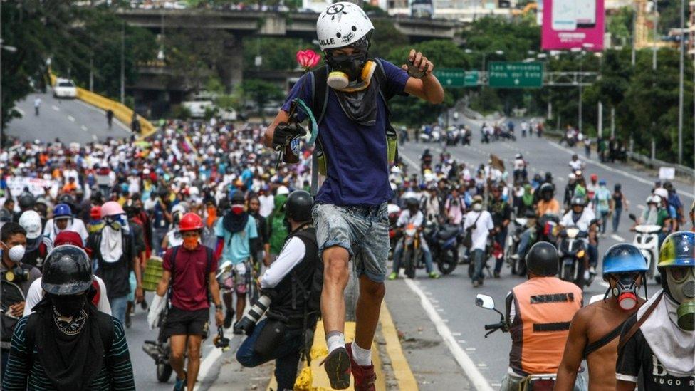
<path fill-rule="evenodd" d="M 135 390 L 125 333 L 87 299 L 87 253 L 57 246 L 43 265 L 46 292 L 12 338 L 3 390 Z"/>

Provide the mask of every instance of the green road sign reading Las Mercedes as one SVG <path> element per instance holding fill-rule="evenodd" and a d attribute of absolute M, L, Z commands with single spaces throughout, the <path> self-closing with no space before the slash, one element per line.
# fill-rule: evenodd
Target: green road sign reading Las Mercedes
<path fill-rule="evenodd" d="M 543 87 L 543 63 L 488 63 L 488 85 L 493 88 Z"/>

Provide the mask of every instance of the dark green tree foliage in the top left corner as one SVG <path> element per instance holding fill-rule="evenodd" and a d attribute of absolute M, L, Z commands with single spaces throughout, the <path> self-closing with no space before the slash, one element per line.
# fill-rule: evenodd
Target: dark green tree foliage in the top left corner
<path fill-rule="evenodd" d="M 88 85 L 90 57 L 93 58 L 97 85 L 107 95 L 117 95 L 120 79 L 121 23 L 105 8 L 73 6 L 61 0 L 9 0 L 0 4 L 0 35 L 5 46 L 17 50 L 3 52 L 1 63 L 0 125 L 19 116 L 18 100 L 34 88 L 45 90 L 48 58 L 51 70 Z M 152 34 L 126 27 L 125 74 L 137 78 L 137 63 L 154 56 Z"/>

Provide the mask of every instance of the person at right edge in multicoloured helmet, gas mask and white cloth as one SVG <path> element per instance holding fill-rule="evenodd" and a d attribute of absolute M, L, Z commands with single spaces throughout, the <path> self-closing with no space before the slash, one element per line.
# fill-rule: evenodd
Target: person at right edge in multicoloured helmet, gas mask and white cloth
<path fill-rule="evenodd" d="M 622 328 L 617 390 L 692 390 L 695 378 L 695 234 L 674 232 L 659 250 L 662 289 Z"/>

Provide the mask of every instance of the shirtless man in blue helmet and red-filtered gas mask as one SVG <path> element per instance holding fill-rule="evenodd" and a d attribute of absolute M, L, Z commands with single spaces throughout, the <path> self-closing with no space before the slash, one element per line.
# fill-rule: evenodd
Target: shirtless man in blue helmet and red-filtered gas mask
<path fill-rule="evenodd" d="M 610 288 L 602 301 L 581 308 L 570 325 L 556 391 L 571 391 L 582 359 L 589 365 L 589 389 L 615 390 L 615 361 L 620 330 L 644 299 L 637 290 L 647 261 L 632 244 L 616 244 L 603 257 L 603 279 Z"/>

